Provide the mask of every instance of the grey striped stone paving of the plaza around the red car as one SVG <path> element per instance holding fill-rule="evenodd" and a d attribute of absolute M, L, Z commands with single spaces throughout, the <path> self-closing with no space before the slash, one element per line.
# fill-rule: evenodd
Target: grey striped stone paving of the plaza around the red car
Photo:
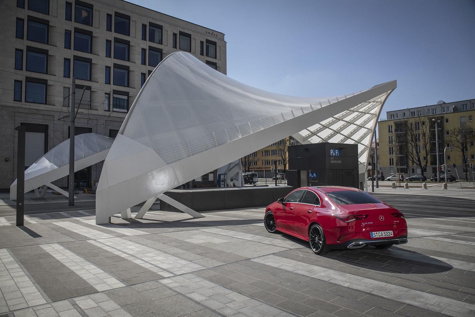
<path fill-rule="evenodd" d="M 0 317 L 475 316 L 473 200 L 376 195 L 405 213 L 409 242 L 325 256 L 267 232 L 264 208 L 106 225 L 55 208 L 21 229 L 0 214 Z"/>

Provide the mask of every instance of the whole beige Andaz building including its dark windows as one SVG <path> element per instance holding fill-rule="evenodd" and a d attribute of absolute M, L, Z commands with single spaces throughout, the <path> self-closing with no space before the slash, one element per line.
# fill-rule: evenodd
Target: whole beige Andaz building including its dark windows
<path fill-rule="evenodd" d="M 16 178 L 16 126 L 26 126 L 27 166 L 69 137 L 72 77 L 76 134 L 115 137 L 170 53 L 226 74 L 223 33 L 123 0 L 2 0 L 0 10 L 0 189 Z M 91 186 L 101 169 L 77 172 L 76 182 Z"/>

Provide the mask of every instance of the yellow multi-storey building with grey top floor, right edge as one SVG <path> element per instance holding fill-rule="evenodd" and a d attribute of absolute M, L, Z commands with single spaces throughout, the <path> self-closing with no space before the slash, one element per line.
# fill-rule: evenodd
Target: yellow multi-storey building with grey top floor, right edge
<path fill-rule="evenodd" d="M 439 101 L 436 105 L 388 111 L 386 114 L 387 117 L 381 118 L 378 123 L 380 171 L 384 175 L 405 173 L 406 176 L 410 176 L 421 173 L 421 169 L 416 162 L 413 162 L 410 157 L 405 155 L 404 151 L 398 151 L 401 145 L 403 145 L 401 143 L 405 140 L 398 137 L 398 134 L 404 134 L 406 137 L 408 134 L 404 127 L 411 126 L 411 123 L 414 122 L 414 129 L 420 131 L 416 131 L 418 133 L 414 134 L 417 137 L 416 141 L 420 141 L 420 143 L 413 142 L 413 145 L 415 145 L 414 151 L 420 153 L 422 162 L 427 162 L 425 175 L 430 178 L 433 173 L 437 173 L 435 122 L 432 119 L 440 122 L 437 125 L 437 137 L 439 141 L 439 165 L 442 165 L 444 164 L 444 148 L 450 145 L 448 139 L 451 136 L 452 130 L 461 126 L 475 127 L 473 121 L 475 116 L 475 99 L 449 103 Z M 418 118 L 421 119 L 419 120 Z M 420 121 L 420 126 L 418 121 Z M 409 125 L 407 125 L 408 122 Z M 426 146 L 423 141 L 425 135 L 423 135 L 424 129 L 422 127 L 426 122 L 429 125 L 427 130 L 425 130 L 430 135 L 428 140 L 434 144 L 430 147 L 431 151 L 427 156 L 424 152 Z M 408 141 L 406 140 L 406 142 Z M 474 142 L 466 144 L 465 158 L 467 163 L 475 163 Z M 454 147 L 453 152 L 448 151 L 446 160 L 448 174 L 457 176 L 458 173 L 461 179 L 466 178 L 466 169 L 463 165 L 464 159 L 460 150 Z M 453 163 L 457 166 L 456 170 L 452 166 Z M 470 175 L 470 178 L 472 178 L 472 175 Z"/>

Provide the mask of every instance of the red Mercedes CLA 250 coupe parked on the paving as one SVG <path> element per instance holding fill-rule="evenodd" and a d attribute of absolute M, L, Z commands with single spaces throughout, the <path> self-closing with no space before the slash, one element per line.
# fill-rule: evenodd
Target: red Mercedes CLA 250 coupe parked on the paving
<path fill-rule="evenodd" d="M 309 241 L 316 254 L 408 242 L 402 212 L 352 187 L 298 188 L 267 206 L 264 225 Z"/>

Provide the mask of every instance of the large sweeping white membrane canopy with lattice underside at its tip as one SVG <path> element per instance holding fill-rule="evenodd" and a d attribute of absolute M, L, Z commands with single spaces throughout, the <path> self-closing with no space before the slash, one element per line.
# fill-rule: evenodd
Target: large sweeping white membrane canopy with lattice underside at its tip
<path fill-rule="evenodd" d="M 285 96 L 237 82 L 189 53 L 172 53 L 147 79 L 105 160 L 96 221 L 288 135 L 302 143 L 359 144 L 365 165 L 395 88 L 392 81 L 331 99 Z"/>

